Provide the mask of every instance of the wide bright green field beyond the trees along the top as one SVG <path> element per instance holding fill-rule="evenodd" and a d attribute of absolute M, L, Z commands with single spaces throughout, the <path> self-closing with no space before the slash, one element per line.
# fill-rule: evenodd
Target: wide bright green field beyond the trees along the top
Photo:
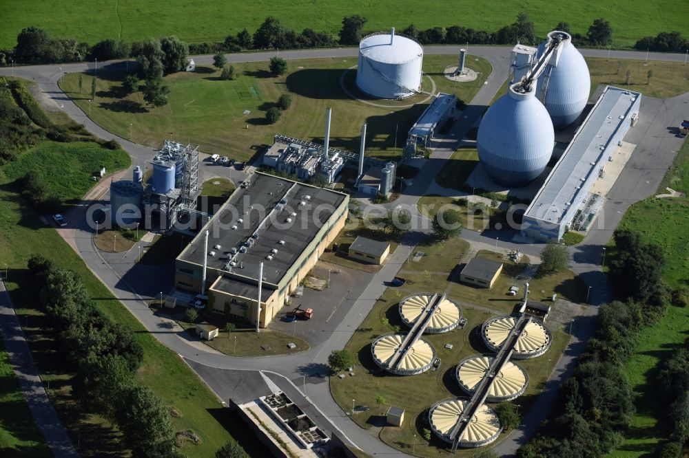
<path fill-rule="evenodd" d="M 14 45 L 17 33 L 30 25 L 37 25 L 55 36 L 73 37 L 95 43 L 107 38 L 141 41 L 174 33 L 190 42 L 223 41 L 228 34 L 247 28 L 254 30 L 268 16 L 297 32 L 311 28 L 317 32 L 337 34 L 342 18 L 361 14 L 369 19 L 367 31 L 398 30 L 414 23 L 420 29 L 435 26 L 461 25 L 493 32 L 513 23 L 519 12 L 526 12 L 535 23 L 535 32 L 545 36 L 559 21 L 570 23 L 574 33 L 586 34 L 593 19 L 604 17 L 613 26 L 616 45 L 633 45 L 645 35 L 677 30 L 689 35 L 686 18 L 689 3 L 675 2 L 672 8 L 659 0 L 646 2 L 621 1 L 601 4 L 586 0 L 570 3 L 551 3 L 544 0 L 501 0 L 482 5 L 475 1 L 453 2 L 401 0 L 394 8 L 384 2 L 358 1 L 344 3 L 325 0 L 318 5 L 310 2 L 278 0 L 253 2 L 198 0 L 110 1 L 94 10 L 86 0 L 72 0 L 68 7 L 56 9 L 49 0 L 2 0 L 0 19 L 0 47 Z"/>

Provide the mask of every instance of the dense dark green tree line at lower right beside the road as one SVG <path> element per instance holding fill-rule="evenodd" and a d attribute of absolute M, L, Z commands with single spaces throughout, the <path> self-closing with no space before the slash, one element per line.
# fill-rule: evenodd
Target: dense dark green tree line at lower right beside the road
<path fill-rule="evenodd" d="M 610 280 L 621 301 L 600 307 L 595 334 L 560 387 L 551 416 L 520 448 L 520 458 L 599 457 L 617 446 L 635 413 L 624 364 L 641 329 L 655 323 L 670 303 L 686 303 L 686 287 L 672 291 L 661 281 L 665 257 L 658 246 L 629 230 L 616 230 L 613 237 L 617 250 Z M 672 403 L 672 441 L 657 456 L 679 457 L 689 438 L 688 357 L 689 352 L 678 352 L 659 375 L 661 393 Z"/>

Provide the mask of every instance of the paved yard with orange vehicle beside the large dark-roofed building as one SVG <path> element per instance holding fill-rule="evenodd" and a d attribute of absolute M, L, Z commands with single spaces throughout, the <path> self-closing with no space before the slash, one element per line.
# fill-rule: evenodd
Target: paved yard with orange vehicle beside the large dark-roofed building
<path fill-rule="evenodd" d="M 313 274 L 327 280 L 328 270 L 331 271 L 329 287 L 323 291 L 305 287 L 303 296 L 291 297 L 291 305 L 282 307 L 268 327 L 289 335 L 294 333 L 309 342 L 311 347 L 325 342 L 345 318 L 349 308 L 371 279 L 371 274 L 368 272 L 325 261 L 318 261 L 316 267 L 313 268 Z M 295 307 L 313 309 L 313 317 L 310 320 L 297 318 L 294 322 L 288 323 L 285 317 Z"/>

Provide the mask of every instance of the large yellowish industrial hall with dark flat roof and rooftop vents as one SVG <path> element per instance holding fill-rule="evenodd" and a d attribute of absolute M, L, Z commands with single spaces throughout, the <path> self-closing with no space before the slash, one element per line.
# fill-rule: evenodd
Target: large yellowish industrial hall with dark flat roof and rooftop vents
<path fill-rule="evenodd" d="M 256 324 L 263 263 L 265 327 L 345 226 L 348 204 L 346 194 L 254 173 L 177 257 L 175 285 L 208 290 L 209 309 Z"/>

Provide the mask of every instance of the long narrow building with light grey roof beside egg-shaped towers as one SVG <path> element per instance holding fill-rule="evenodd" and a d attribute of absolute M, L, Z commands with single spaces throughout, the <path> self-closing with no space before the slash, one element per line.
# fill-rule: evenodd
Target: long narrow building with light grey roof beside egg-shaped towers
<path fill-rule="evenodd" d="M 604 175 L 613 152 L 635 124 L 640 102 L 638 92 L 606 87 L 526 209 L 522 235 L 544 241 L 562 239 L 582 204 L 590 200 L 590 188 Z"/>

